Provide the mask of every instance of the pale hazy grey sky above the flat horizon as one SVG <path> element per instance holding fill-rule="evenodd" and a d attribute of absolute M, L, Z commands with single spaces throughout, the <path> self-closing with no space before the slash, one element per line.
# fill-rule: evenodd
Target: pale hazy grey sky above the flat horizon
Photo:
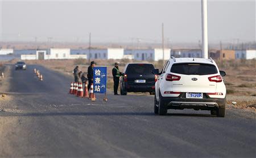
<path fill-rule="evenodd" d="M 2 41 L 201 40 L 201 1 L 2 1 Z M 208 1 L 209 43 L 255 41 L 255 1 Z"/>

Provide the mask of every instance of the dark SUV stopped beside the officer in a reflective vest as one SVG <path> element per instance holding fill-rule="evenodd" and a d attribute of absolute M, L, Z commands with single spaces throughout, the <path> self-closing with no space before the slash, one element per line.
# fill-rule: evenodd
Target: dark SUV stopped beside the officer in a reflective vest
<path fill-rule="evenodd" d="M 131 63 L 125 66 L 120 80 L 120 93 L 127 92 L 155 92 L 157 76 L 152 74 L 154 65 L 147 63 Z"/>

